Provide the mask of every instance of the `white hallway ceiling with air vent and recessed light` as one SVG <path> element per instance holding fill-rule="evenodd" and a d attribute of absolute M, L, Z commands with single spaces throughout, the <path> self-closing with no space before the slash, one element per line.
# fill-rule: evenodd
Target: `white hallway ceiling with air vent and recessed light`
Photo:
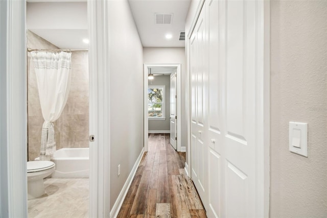
<path fill-rule="evenodd" d="M 143 47 L 184 47 L 179 32 L 185 30 L 190 0 L 129 0 Z M 155 24 L 155 13 L 173 13 L 172 24 Z M 166 39 L 167 33 L 172 34 Z"/>

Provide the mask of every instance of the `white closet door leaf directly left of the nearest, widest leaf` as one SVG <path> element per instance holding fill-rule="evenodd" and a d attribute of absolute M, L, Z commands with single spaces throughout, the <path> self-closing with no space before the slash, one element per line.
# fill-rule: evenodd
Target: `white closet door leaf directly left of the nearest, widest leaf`
<path fill-rule="evenodd" d="M 224 75 L 224 47 L 220 45 L 222 28 L 221 13 L 223 1 L 207 1 L 206 24 L 208 43 L 208 89 L 207 89 L 207 139 L 209 145 L 208 154 L 208 180 L 209 197 L 208 205 L 205 206 L 208 217 L 221 216 L 224 207 L 223 187 L 223 117 L 222 117 L 222 86 Z M 220 7 L 219 7 L 220 6 Z M 219 10 L 220 9 L 220 10 Z"/>

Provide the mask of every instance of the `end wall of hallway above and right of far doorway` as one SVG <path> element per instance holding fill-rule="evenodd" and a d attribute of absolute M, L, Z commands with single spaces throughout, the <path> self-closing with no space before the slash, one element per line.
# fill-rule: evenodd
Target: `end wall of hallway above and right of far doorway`
<path fill-rule="evenodd" d="M 180 63 L 181 64 L 181 147 L 187 147 L 188 129 L 186 120 L 185 90 L 186 90 L 186 59 L 184 48 L 143 48 L 143 58 L 146 64 Z M 178 137 L 178 136 L 177 136 Z"/>

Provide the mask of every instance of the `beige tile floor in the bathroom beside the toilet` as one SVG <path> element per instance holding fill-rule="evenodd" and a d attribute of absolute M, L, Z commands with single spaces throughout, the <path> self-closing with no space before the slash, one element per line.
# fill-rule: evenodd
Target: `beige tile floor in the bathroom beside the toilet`
<path fill-rule="evenodd" d="M 28 201 L 29 217 L 88 217 L 89 179 L 45 179 L 45 192 Z"/>

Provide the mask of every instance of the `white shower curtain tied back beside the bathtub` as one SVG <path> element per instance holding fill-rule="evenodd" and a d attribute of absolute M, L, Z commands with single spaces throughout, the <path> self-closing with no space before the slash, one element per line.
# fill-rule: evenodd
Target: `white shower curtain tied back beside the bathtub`
<path fill-rule="evenodd" d="M 40 160 L 50 160 L 56 151 L 53 122 L 63 111 L 71 84 L 72 53 L 31 52 L 31 54 L 44 118 Z"/>

